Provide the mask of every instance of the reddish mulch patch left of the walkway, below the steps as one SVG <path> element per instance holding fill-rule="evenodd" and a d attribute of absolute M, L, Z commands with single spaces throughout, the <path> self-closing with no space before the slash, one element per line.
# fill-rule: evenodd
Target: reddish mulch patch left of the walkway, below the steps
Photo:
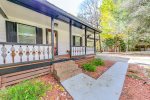
<path fill-rule="evenodd" d="M 42 100 L 73 100 L 53 75 L 41 76 L 39 79 L 52 85 L 52 89 L 46 92 L 46 96 L 42 97 Z"/>

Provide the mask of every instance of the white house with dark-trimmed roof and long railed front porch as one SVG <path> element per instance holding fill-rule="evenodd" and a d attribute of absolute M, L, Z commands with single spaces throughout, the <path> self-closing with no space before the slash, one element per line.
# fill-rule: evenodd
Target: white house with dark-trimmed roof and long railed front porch
<path fill-rule="evenodd" d="M 1 84 L 7 74 L 94 55 L 100 32 L 46 0 L 0 0 Z"/>

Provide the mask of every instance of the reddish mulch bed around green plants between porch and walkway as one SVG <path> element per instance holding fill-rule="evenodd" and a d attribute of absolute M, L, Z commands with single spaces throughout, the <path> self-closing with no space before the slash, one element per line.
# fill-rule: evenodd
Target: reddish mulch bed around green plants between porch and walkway
<path fill-rule="evenodd" d="M 92 77 L 92 78 L 99 78 L 105 71 L 107 71 L 113 64 L 115 64 L 115 61 L 109 61 L 109 60 L 105 60 L 104 61 L 105 65 L 103 66 L 98 66 L 96 68 L 95 72 L 88 72 L 85 71 L 82 67 L 82 71 L 83 73 L 87 74 L 88 76 Z"/>

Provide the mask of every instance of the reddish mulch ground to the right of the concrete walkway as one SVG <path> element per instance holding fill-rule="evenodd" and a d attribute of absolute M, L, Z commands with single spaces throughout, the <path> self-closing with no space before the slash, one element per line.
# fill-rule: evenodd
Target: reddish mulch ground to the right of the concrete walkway
<path fill-rule="evenodd" d="M 144 66 L 129 65 L 120 100 L 150 100 L 150 77 Z"/>

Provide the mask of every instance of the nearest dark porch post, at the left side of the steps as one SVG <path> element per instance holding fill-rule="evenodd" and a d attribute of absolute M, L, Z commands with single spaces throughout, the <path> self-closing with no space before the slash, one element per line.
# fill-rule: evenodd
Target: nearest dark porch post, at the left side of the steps
<path fill-rule="evenodd" d="M 54 18 L 51 17 L 51 45 L 52 45 L 52 60 L 54 60 Z"/>

